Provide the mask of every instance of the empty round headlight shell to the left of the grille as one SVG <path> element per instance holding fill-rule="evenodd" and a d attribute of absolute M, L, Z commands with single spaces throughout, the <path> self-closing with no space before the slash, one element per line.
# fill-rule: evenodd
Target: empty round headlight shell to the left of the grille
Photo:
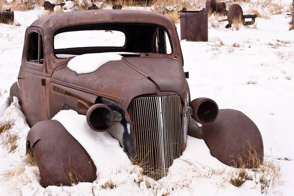
<path fill-rule="evenodd" d="M 114 112 L 107 105 L 98 103 L 92 105 L 86 114 L 88 125 L 98 132 L 104 132 L 111 128 L 115 121 Z"/>

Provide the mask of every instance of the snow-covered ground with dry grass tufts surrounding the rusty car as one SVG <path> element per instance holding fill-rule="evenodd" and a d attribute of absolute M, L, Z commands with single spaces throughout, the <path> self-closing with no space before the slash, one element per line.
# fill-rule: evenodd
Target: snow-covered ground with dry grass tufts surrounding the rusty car
<path fill-rule="evenodd" d="M 174 160 L 168 175 L 154 181 L 131 164 L 117 140 L 107 132 L 91 132 L 85 116 L 67 110 L 54 119 L 73 135 L 77 128 L 83 130 L 81 143 L 87 140 L 87 133 L 93 134 L 89 144 L 108 150 L 88 152 L 94 162 L 97 160 L 95 165 L 109 167 L 93 183 L 43 188 L 38 168 L 25 161 L 29 131 L 25 116 L 18 100 L 9 106 L 8 97 L 21 65 L 25 29 L 44 8 L 15 11 L 20 26 L 0 24 L 0 123 L 14 121 L 0 133 L 0 196 L 293 196 L 294 30 L 289 31 L 291 17 L 286 15 L 292 0 L 275 2 L 285 8 L 281 14 L 270 14 L 270 7 L 257 6 L 269 18 L 256 18 L 255 25 L 233 25 L 230 29 L 224 27 L 227 22 L 211 16 L 208 42 L 181 42 L 184 70 L 190 73 L 191 98 L 208 97 L 220 109 L 240 110 L 261 131 L 266 164 L 258 170 L 246 170 L 245 183 L 240 187 L 230 183 L 240 170 L 223 165 L 210 155 L 203 140 L 190 136 L 186 150 Z M 250 13 L 256 3 L 242 3 L 242 7 Z M 176 26 L 180 33 L 180 25 Z M 115 44 L 116 40 L 105 41 Z M 14 142 L 9 142 L 13 138 Z M 103 172 L 101 167 L 98 170 Z"/>

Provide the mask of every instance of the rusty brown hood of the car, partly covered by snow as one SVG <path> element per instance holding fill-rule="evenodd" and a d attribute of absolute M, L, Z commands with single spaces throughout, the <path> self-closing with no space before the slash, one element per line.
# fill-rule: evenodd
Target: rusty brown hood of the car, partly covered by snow
<path fill-rule="evenodd" d="M 125 108 L 135 97 L 158 92 L 175 92 L 184 98 L 187 88 L 178 61 L 154 57 L 126 57 L 84 74 L 63 67 L 53 72 L 51 82 L 112 99 Z"/>

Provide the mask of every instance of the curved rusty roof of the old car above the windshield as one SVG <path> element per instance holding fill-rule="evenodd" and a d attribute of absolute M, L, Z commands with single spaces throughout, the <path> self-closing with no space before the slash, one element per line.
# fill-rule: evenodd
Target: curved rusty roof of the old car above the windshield
<path fill-rule="evenodd" d="M 37 26 L 49 35 L 65 26 L 99 23 L 149 23 L 172 29 L 173 23 L 165 16 L 138 10 L 83 10 L 63 12 L 41 17 L 30 26 Z"/>

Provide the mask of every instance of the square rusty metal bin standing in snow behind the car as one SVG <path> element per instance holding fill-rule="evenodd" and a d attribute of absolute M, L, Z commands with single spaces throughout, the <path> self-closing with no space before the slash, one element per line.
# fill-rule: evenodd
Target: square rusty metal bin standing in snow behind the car
<path fill-rule="evenodd" d="M 208 41 L 208 15 L 205 8 L 199 11 L 178 12 L 181 26 L 181 40 L 193 42 Z"/>

